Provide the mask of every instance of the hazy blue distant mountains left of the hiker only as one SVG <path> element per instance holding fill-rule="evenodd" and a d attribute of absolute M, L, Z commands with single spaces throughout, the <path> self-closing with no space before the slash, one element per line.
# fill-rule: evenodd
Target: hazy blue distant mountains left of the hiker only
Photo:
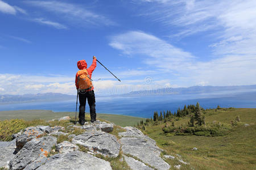
<path fill-rule="evenodd" d="M 64 101 L 72 99 L 75 99 L 75 96 L 59 93 L 0 95 L 0 104 L 28 103 L 34 101 Z"/>

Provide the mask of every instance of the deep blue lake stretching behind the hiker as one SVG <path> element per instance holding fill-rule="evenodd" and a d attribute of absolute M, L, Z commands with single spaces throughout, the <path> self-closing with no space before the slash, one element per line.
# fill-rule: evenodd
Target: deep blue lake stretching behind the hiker
<path fill-rule="evenodd" d="M 200 94 L 200 95 L 163 95 L 137 97 L 96 97 L 96 112 L 123 114 L 136 117 L 151 117 L 154 111 L 171 110 L 173 113 L 184 104 L 200 103 L 203 108 L 221 107 L 256 108 L 256 93 L 243 94 Z M 54 112 L 75 112 L 76 99 L 72 101 L 40 102 L 0 105 L 0 111 L 45 109 Z M 86 104 L 86 112 L 89 106 Z"/>

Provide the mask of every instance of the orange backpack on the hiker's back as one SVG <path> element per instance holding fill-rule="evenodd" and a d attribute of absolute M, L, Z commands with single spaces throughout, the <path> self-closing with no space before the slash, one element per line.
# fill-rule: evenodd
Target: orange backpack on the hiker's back
<path fill-rule="evenodd" d="M 90 88 L 92 88 L 92 79 L 90 79 L 90 76 L 87 72 L 86 69 L 84 70 L 79 70 L 77 72 L 78 75 L 78 80 L 77 80 L 77 84 L 79 86 L 79 89 L 81 90 L 89 90 Z"/>

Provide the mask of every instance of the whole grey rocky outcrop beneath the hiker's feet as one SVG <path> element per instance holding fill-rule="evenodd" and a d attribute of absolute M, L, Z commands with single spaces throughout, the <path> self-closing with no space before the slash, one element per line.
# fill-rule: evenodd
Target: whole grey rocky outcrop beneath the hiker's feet
<path fill-rule="evenodd" d="M 126 131 L 118 134 L 121 139 L 109 134 L 113 131 L 114 124 L 106 122 L 87 122 L 84 126 L 71 125 L 67 127 L 67 131 L 72 131 L 74 128 L 85 129 L 85 132 L 80 135 L 68 135 L 61 126 L 36 126 L 20 131 L 15 134 L 14 141 L 0 142 L 0 168 L 112 169 L 109 162 L 97 158 L 96 154 L 117 158 L 122 153 L 123 158 L 120 161 L 125 161 L 131 169 L 170 169 L 170 165 L 160 157 L 162 150 L 156 146 L 155 141 L 137 128 L 123 128 Z M 57 144 L 55 136 L 59 135 L 68 135 L 68 141 Z M 71 139 L 72 142 L 69 142 Z M 15 144 L 18 148 L 16 151 Z M 88 150 L 77 145 L 84 146 Z M 83 152 L 78 151 L 79 148 Z M 50 152 L 56 155 L 48 158 Z M 171 155 L 164 155 L 163 158 L 175 159 Z M 181 158 L 178 158 L 178 161 L 186 164 Z"/>

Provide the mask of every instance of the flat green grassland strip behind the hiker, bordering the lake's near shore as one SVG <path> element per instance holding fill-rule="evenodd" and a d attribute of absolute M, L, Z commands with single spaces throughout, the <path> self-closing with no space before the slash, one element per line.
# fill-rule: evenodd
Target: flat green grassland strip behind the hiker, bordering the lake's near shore
<path fill-rule="evenodd" d="M 77 113 L 77 117 L 78 117 Z M 88 115 L 89 113 L 86 113 Z M 55 118 L 60 118 L 64 116 L 75 117 L 75 112 L 52 112 L 47 110 L 20 110 L 20 111 L 1 111 L 0 112 L 0 120 L 10 120 L 15 118 L 20 118 L 24 120 L 34 120 L 34 119 L 42 119 L 42 120 L 52 120 Z M 140 117 L 131 117 L 131 116 L 123 116 L 117 114 L 102 114 L 97 113 L 97 118 L 101 118 L 104 120 L 108 120 L 117 124 L 119 126 L 134 126 L 144 118 Z"/>

